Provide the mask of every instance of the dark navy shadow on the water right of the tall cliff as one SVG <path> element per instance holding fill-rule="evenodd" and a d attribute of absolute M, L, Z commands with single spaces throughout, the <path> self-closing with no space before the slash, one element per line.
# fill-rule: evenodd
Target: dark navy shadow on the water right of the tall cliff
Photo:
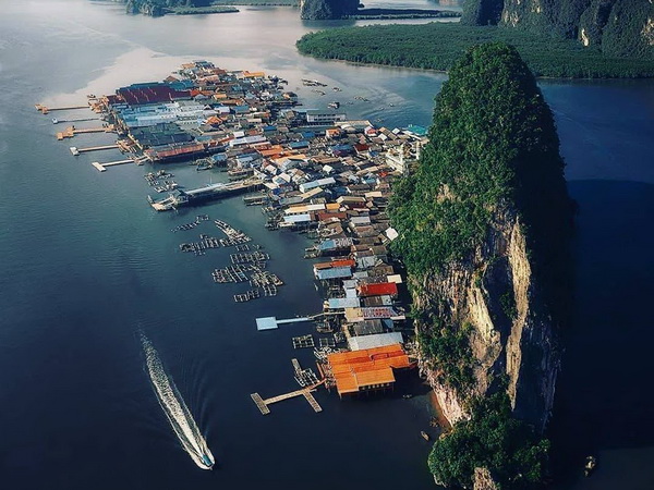
<path fill-rule="evenodd" d="M 579 474 L 589 454 L 654 449 L 654 185 L 573 181 L 568 187 L 579 205 L 576 294 L 572 322 L 561 332 L 550 436 L 559 470 Z M 602 469 L 600 456 L 598 478 Z"/>

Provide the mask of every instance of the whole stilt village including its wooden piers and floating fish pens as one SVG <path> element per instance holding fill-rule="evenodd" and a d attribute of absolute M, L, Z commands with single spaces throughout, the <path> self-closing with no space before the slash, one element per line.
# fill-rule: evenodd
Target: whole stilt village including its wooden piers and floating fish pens
<path fill-rule="evenodd" d="M 302 82 L 319 95 L 327 94 L 326 84 Z M 257 318 L 256 329 L 310 324 L 315 333 L 295 336 L 292 343 L 294 348 L 313 350 L 316 370 L 292 359 L 296 391 L 267 399 L 251 395 L 264 415 L 271 404 L 294 396 L 304 396 L 320 412 L 312 395 L 319 387 L 341 399 L 390 391 L 397 372 L 417 364 L 405 335 L 410 329 L 400 301 L 405 286 L 401 268 L 389 255 L 397 232 L 386 208 L 392 181 L 417 161 L 426 131 L 376 127 L 370 121 L 348 119 L 340 106 L 326 101 L 323 108 L 302 110 L 284 79 L 262 72 L 226 71 L 207 61 L 183 64 L 162 82 L 130 85 L 113 95 L 89 95 L 85 105 L 36 106 L 44 114 L 90 108 L 94 118 L 53 118 L 52 122 L 98 121 L 98 127 L 78 130 L 71 124 L 57 134 L 58 139 L 116 133 L 116 144 L 70 150 L 73 156 L 110 148 L 124 154 L 121 160 L 94 162 L 100 172 L 113 166 L 149 166 L 145 180 L 159 196 L 148 201 L 157 211 L 242 195 L 244 205 L 261 207 L 268 230 L 303 233 L 313 243 L 304 258 L 313 262 L 323 310 L 288 319 Z M 221 180 L 227 182 L 186 188 L 161 166 L 173 161 L 191 161 L 197 171 L 223 171 L 227 176 Z M 229 223 L 198 215 L 172 232 L 187 235 L 207 226 L 215 233 L 181 243 L 180 252 L 204 255 L 228 247 L 230 264 L 210 274 L 218 286 L 243 285 L 242 293 L 233 296 L 235 303 L 281 291 L 283 278 L 268 270 L 268 253 Z M 426 433 L 423 437 L 428 439 Z"/>

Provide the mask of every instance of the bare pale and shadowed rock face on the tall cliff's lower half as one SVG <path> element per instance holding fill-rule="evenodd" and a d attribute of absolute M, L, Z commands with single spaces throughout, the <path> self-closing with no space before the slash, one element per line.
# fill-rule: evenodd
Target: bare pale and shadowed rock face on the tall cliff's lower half
<path fill-rule="evenodd" d="M 417 309 L 427 309 L 446 323 L 470 326 L 474 384 L 460 392 L 423 360 L 445 417 L 467 416 L 465 402 L 496 390 L 508 380 L 514 414 L 543 430 L 552 412 L 559 355 L 552 317 L 538 289 L 516 210 L 504 208 L 493 218 L 486 240 L 472 257 L 451 264 L 445 273 L 413 277 Z M 417 322 L 417 329 L 434 328 Z"/>

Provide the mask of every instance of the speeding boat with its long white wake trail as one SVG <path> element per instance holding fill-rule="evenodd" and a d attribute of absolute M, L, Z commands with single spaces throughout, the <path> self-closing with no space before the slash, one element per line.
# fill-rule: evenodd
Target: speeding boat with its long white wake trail
<path fill-rule="evenodd" d="M 214 455 L 202 437 L 197 424 L 195 424 L 193 415 L 191 415 L 182 395 L 175 388 L 172 378 L 164 370 L 157 350 L 143 332 L 141 332 L 141 344 L 145 354 L 147 372 L 159 400 L 159 405 L 161 405 L 172 430 L 182 443 L 182 448 L 197 466 L 203 469 L 211 469 L 215 464 Z"/>

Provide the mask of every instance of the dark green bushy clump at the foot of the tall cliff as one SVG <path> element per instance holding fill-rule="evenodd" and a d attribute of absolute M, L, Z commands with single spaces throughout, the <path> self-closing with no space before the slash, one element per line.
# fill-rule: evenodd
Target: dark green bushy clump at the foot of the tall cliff
<path fill-rule="evenodd" d="M 446 487 L 472 488 L 475 468 L 485 468 L 501 490 L 537 487 L 547 467 L 549 442 L 511 417 L 504 392 L 472 403 L 470 420 L 434 443 L 429 470 Z"/>

